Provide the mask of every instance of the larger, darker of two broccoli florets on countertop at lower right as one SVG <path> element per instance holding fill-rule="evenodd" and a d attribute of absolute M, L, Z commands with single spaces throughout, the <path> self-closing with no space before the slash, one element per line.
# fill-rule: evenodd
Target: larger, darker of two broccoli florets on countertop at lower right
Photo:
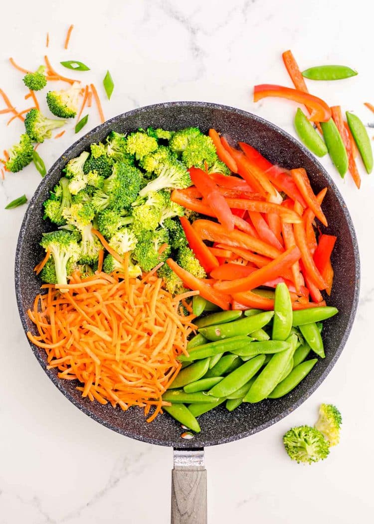
<path fill-rule="evenodd" d="M 283 436 L 283 444 L 290 459 L 296 462 L 318 462 L 329 454 L 328 442 L 321 431 L 303 425 L 290 429 Z"/>

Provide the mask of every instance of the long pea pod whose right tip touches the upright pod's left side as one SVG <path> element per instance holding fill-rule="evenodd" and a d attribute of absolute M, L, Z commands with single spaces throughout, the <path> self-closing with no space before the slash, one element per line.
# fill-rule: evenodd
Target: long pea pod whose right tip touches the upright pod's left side
<path fill-rule="evenodd" d="M 229 322 L 227 324 L 217 324 L 207 328 L 199 328 L 206 339 L 216 341 L 229 339 L 233 336 L 249 335 L 252 331 L 263 328 L 273 318 L 273 311 L 266 311 L 258 315 L 248 316 L 247 318 Z"/>

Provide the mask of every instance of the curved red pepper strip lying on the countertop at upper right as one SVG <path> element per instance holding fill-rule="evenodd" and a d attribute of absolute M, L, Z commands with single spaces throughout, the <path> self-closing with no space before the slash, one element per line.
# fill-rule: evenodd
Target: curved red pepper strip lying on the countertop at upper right
<path fill-rule="evenodd" d="M 326 102 L 310 93 L 303 93 L 303 91 L 298 89 L 285 88 L 282 85 L 255 85 L 254 102 L 258 102 L 267 96 L 277 96 L 306 105 L 312 110 L 309 118 L 312 122 L 327 122 L 331 118 L 331 110 Z"/>

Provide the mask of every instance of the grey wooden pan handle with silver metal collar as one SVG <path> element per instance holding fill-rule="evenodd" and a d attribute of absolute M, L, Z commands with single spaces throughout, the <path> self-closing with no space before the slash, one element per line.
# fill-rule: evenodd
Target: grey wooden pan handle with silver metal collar
<path fill-rule="evenodd" d="M 207 524 L 204 449 L 174 448 L 171 524 Z"/>

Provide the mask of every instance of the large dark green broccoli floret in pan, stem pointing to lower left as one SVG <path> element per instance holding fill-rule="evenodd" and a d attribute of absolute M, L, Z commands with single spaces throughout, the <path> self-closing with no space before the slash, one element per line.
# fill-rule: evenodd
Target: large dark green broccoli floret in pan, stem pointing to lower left
<path fill-rule="evenodd" d="M 106 208 L 129 208 L 138 196 L 140 188 L 140 171 L 125 162 L 117 162 L 113 173 L 104 181 L 103 190 L 98 190 L 92 197 L 96 212 Z"/>

